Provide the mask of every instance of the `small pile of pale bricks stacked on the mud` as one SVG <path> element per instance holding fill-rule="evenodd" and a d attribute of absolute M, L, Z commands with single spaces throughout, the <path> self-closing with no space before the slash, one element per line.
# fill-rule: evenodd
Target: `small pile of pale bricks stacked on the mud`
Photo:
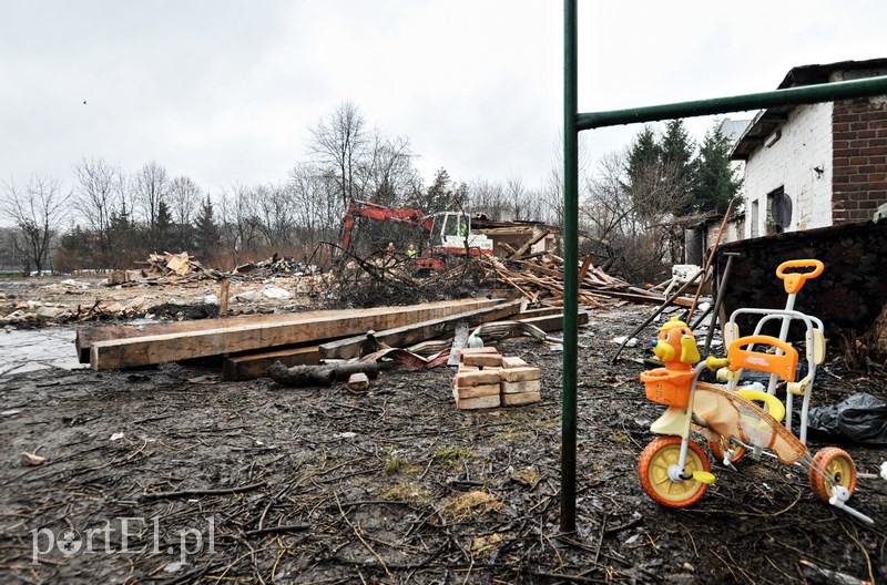
<path fill-rule="evenodd" d="M 496 348 L 459 352 L 452 397 L 460 410 L 518 407 L 539 402 L 542 370 L 520 358 L 506 358 Z"/>

